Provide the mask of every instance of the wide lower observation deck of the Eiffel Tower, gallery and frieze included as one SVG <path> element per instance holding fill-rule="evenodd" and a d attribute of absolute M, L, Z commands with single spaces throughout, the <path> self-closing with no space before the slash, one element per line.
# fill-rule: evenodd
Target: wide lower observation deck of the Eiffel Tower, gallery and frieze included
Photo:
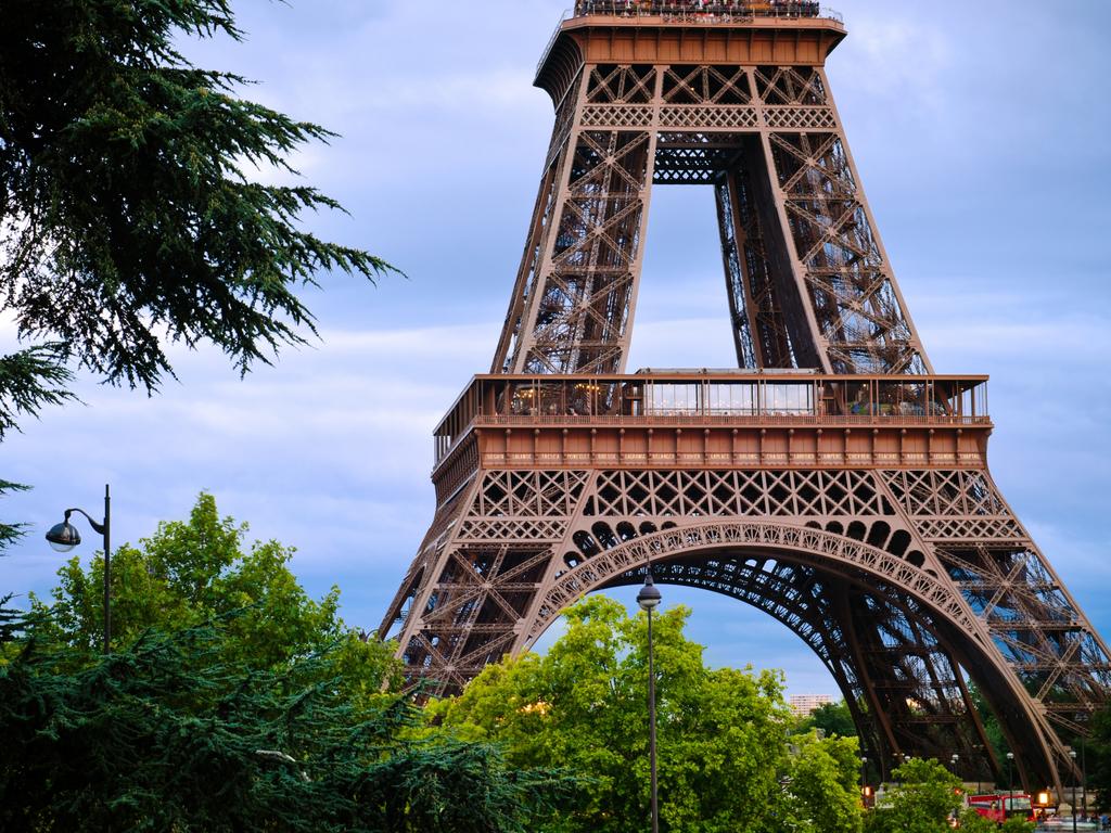
<path fill-rule="evenodd" d="M 436 429 L 433 480 L 443 498 L 477 468 L 985 468 L 992 426 L 984 375 L 487 374 Z"/>

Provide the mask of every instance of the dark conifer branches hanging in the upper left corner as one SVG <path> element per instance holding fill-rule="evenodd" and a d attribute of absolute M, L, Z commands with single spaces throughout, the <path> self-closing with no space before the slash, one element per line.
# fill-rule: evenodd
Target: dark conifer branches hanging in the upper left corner
<path fill-rule="evenodd" d="M 290 154 L 332 134 L 179 51 L 240 40 L 230 0 L 6 0 L 2 17 L 0 311 L 28 347 L 0 357 L 0 440 L 71 398 L 72 365 L 150 392 L 168 342 L 211 343 L 246 373 L 316 333 L 296 290 L 319 271 L 392 269 L 301 227 L 331 198 L 244 172 L 296 173 Z"/>

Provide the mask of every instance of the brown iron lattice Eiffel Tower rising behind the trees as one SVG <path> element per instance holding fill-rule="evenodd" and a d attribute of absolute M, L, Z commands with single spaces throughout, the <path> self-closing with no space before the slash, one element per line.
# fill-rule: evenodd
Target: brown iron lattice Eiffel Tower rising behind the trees
<path fill-rule="evenodd" d="M 985 707 L 1021 783 L 1060 790 L 1111 659 L 989 473 L 987 377 L 922 347 L 830 94 L 844 37 L 797 0 L 561 22 L 504 329 L 436 430 L 436 515 L 380 633 L 453 693 L 651 569 L 794 631 L 881 777 L 957 753 L 1002 783 Z M 738 368 L 625 370 L 662 184 L 714 190 Z"/>

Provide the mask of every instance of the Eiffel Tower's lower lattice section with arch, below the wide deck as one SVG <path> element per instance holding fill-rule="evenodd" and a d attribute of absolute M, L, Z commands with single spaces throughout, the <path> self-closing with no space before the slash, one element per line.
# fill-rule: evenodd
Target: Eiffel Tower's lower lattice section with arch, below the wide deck
<path fill-rule="evenodd" d="M 971 678 L 1029 776 L 1057 777 L 1052 727 L 1111 691 L 1105 646 L 983 470 L 487 470 L 460 503 L 383 624 L 432 691 L 648 564 L 798 633 L 884 762 L 958 751 L 969 777 L 998 773 Z"/>

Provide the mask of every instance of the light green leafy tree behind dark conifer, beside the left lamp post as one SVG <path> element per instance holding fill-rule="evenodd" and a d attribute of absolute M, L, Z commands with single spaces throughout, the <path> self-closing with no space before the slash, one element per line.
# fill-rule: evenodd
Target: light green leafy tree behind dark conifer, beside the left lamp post
<path fill-rule="evenodd" d="M 216 499 L 202 493 L 188 521 L 160 523 L 138 546 L 119 548 L 112 553 L 113 644 L 223 616 L 226 662 L 272 670 L 327 649 L 342 664 L 346 694 L 357 700 L 373 699 L 398 679 L 393 646 L 339 616 L 339 589 L 311 599 L 289 569 L 293 548 L 277 541 L 247 546 L 247 533 L 246 523 L 221 518 Z M 87 661 L 99 650 L 103 570 L 100 553 L 88 570 L 74 558 L 59 570 L 50 604 L 32 596 L 33 611 L 51 614 L 39 640 L 64 646 L 71 660 Z"/>

